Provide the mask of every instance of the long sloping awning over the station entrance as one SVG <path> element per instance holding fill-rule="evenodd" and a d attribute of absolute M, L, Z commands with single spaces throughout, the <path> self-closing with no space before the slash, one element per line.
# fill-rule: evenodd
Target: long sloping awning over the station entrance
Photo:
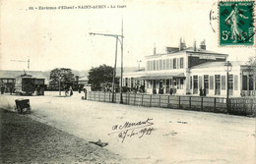
<path fill-rule="evenodd" d="M 185 78 L 184 73 L 171 73 L 171 74 L 148 74 L 147 76 L 137 77 L 134 80 L 146 81 L 146 80 L 167 80 L 173 78 Z"/>

